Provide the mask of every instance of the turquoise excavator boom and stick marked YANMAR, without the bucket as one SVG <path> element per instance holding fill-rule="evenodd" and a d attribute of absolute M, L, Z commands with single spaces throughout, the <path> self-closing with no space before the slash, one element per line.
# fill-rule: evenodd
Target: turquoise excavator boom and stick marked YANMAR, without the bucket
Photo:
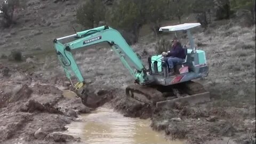
<path fill-rule="evenodd" d="M 77 39 L 75 41 L 62 44 L 61 40 L 67 38 Z M 107 42 L 111 46 L 111 49 L 115 51 L 123 65 L 134 77 L 136 83 L 146 84 L 149 82 L 150 78 L 146 74 L 145 66 L 143 66 L 143 63 L 138 58 L 138 55 L 133 52 L 122 35 L 113 28 L 108 26 L 101 26 L 53 40 L 55 50 L 66 76 L 71 79 L 71 74 L 69 73 L 69 69 L 71 69 L 78 80 L 78 83 L 73 85 L 75 89 L 81 89 L 81 87 L 85 85 L 85 81 L 71 51 L 102 42 Z M 125 58 L 127 58 L 132 63 L 136 71 L 133 71 L 132 67 L 129 65 L 129 62 L 127 62 Z"/>

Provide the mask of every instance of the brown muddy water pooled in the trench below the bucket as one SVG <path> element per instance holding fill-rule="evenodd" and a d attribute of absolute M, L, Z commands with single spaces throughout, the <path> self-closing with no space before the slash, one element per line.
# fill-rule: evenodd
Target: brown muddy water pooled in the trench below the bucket
<path fill-rule="evenodd" d="M 182 143 L 167 141 L 164 135 L 151 130 L 149 120 L 124 117 L 108 108 L 98 108 L 79 119 L 82 121 L 67 125 L 66 134 L 80 137 L 85 143 Z"/>

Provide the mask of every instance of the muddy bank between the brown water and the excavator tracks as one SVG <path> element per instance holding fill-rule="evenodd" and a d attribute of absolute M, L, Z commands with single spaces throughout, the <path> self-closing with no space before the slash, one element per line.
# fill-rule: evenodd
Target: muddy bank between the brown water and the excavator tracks
<path fill-rule="evenodd" d="M 244 127 L 241 121 L 237 121 L 234 112 L 205 107 L 205 104 L 189 106 L 188 103 L 175 103 L 173 107 L 154 109 L 143 107 L 128 98 L 115 99 L 113 102 L 115 108 L 122 111 L 125 116 L 150 117 L 152 129 L 165 132 L 171 140 L 186 139 L 187 143 L 211 143 L 221 137 L 228 137 L 238 141 L 242 133 L 251 129 L 253 131 L 253 124 Z M 246 143 L 245 141 L 242 142 Z"/>

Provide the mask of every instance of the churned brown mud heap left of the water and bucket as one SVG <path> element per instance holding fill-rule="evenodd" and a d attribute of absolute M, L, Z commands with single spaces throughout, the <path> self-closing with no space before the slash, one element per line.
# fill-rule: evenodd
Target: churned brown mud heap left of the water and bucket
<path fill-rule="evenodd" d="M 81 99 L 63 97 L 58 85 L 31 78 L 33 81 L 26 79 L 26 84 L 0 78 L 0 143 L 79 142 L 79 138 L 58 132 L 66 131 L 66 124 L 75 121 L 80 113 L 90 113 L 90 109 L 83 106 Z"/>

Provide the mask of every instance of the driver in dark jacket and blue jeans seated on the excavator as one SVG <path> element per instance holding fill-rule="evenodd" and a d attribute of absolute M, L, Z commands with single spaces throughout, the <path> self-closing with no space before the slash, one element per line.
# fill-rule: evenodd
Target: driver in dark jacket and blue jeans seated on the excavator
<path fill-rule="evenodd" d="M 173 38 L 172 43 L 171 50 L 162 53 L 163 60 L 169 65 L 169 73 L 174 73 L 174 66 L 184 62 L 186 58 L 185 51 L 177 37 Z"/>

